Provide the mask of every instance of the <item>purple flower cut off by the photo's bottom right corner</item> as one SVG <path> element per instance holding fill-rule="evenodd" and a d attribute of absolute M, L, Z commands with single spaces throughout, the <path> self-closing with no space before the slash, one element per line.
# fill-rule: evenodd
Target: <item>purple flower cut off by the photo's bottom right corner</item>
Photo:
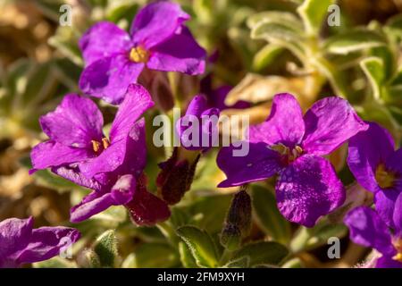
<path fill-rule="evenodd" d="M 376 262 L 378 268 L 402 268 L 402 194 L 395 202 L 392 229 L 373 209 L 359 206 L 344 219 L 350 231 L 350 239 L 381 253 Z"/>

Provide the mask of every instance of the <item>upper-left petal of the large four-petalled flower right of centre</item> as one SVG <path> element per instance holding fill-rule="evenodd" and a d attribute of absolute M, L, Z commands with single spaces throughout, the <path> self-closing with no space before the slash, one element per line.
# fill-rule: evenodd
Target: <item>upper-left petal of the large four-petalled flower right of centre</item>
<path fill-rule="evenodd" d="M 302 110 L 296 98 L 289 93 L 273 97 L 270 116 L 265 122 L 249 129 L 251 142 L 265 142 L 268 145 L 281 143 L 288 147 L 299 144 L 304 133 Z"/>

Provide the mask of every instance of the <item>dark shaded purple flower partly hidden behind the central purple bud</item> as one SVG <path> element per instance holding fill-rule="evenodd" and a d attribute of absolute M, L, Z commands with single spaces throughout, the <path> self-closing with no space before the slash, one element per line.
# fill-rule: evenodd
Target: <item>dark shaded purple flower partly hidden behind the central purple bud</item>
<path fill-rule="evenodd" d="M 210 107 L 218 108 L 220 111 L 225 109 L 244 109 L 250 107 L 250 103 L 244 100 L 239 100 L 234 105 L 226 105 L 225 99 L 228 96 L 231 87 L 228 85 L 223 85 L 219 88 L 213 88 L 212 86 L 212 75 L 207 75 L 203 80 L 201 80 L 201 93 L 205 95 L 208 105 Z"/>

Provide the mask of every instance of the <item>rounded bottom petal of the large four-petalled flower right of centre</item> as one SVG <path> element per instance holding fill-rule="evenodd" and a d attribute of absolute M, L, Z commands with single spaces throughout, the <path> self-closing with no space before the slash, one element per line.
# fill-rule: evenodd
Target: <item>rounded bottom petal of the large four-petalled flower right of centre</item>
<path fill-rule="evenodd" d="M 320 156 L 301 156 L 280 172 L 276 199 L 290 222 L 312 227 L 345 201 L 345 189 L 331 163 Z"/>

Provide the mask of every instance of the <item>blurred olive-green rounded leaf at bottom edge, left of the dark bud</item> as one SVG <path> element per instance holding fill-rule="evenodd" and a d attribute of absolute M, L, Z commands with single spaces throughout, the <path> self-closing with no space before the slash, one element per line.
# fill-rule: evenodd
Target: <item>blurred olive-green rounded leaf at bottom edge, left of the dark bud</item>
<path fill-rule="evenodd" d="M 130 258 L 130 268 L 168 268 L 179 265 L 179 256 L 166 243 L 143 243 Z"/>

